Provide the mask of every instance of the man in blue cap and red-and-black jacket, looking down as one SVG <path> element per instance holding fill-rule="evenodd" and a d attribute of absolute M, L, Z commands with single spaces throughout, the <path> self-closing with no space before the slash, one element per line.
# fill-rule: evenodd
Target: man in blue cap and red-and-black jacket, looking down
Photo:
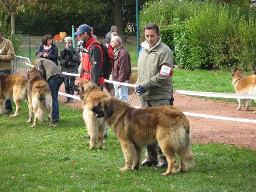
<path fill-rule="evenodd" d="M 81 40 L 85 42 L 85 49 L 88 50 L 93 42 L 98 42 L 92 36 L 92 29 L 90 26 L 83 24 L 79 26 L 75 35 L 79 35 Z M 101 90 L 103 90 L 103 84 L 105 84 L 104 77 L 100 77 L 100 68 L 103 65 L 103 52 L 99 45 L 92 45 L 88 52 L 83 52 L 82 56 L 82 72 L 79 81 L 87 79 L 93 83 L 98 84 Z"/>

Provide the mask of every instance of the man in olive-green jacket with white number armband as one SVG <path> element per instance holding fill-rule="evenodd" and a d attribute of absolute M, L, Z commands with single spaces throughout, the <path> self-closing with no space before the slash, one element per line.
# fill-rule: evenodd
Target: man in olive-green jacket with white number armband
<path fill-rule="evenodd" d="M 161 42 L 159 28 L 155 23 L 145 26 L 146 41 L 141 44 L 138 60 L 138 79 L 146 92 L 140 96 L 141 108 L 170 105 L 172 99 L 173 54 L 171 49 Z M 159 154 L 159 161 L 157 160 Z M 168 164 L 158 143 L 147 146 L 143 166 L 167 168 Z"/>

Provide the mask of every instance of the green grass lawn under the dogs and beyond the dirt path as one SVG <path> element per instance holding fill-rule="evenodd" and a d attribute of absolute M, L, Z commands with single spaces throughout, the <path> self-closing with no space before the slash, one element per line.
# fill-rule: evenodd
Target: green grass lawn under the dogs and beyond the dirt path
<path fill-rule="evenodd" d="M 228 71 L 175 68 L 173 75 L 177 90 L 234 93 L 231 82 Z M 20 116 L 0 116 L 0 191 L 256 191 L 256 150 L 234 145 L 192 143 L 196 165 L 186 173 L 120 172 L 124 156 L 115 134 L 109 129 L 106 149 L 89 150 L 82 113 L 60 104 L 61 121 L 52 129 L 26 123 L 26 102 Z"/>

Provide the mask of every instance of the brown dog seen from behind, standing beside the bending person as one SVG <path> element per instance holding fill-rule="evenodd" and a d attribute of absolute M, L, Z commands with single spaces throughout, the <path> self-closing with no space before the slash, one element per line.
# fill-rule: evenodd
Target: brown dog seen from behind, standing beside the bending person
<path fill-rule="evenodd" d="M 29 108 L 29 120 L 27 123 L 31 123 L 33 119 L 33 113 L 35 115 L 34 123 L 31 127 L 36 126 L 37 120 L 45 122 L 45 113 L 48 116 L 50 127 L 52 125 L 52 95 L 49 84 L 41 76 L 40 71 L 33 67 L 28 72 L 28 108 Z"/>

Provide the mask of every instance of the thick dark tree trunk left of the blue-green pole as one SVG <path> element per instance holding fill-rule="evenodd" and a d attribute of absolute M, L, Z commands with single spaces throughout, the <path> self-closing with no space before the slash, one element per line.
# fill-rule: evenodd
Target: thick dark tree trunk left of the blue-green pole
<path fill-rule="evenodd" d="M 123 17 L 123 1 L 122 0 L 116 0 L 114 3 L 113 12 L 114 12 L 114 18 L 117 28 L 117 33 L 119 36 L 125 35 L 125 28 L 124 28 L 124 17 Z"/>

